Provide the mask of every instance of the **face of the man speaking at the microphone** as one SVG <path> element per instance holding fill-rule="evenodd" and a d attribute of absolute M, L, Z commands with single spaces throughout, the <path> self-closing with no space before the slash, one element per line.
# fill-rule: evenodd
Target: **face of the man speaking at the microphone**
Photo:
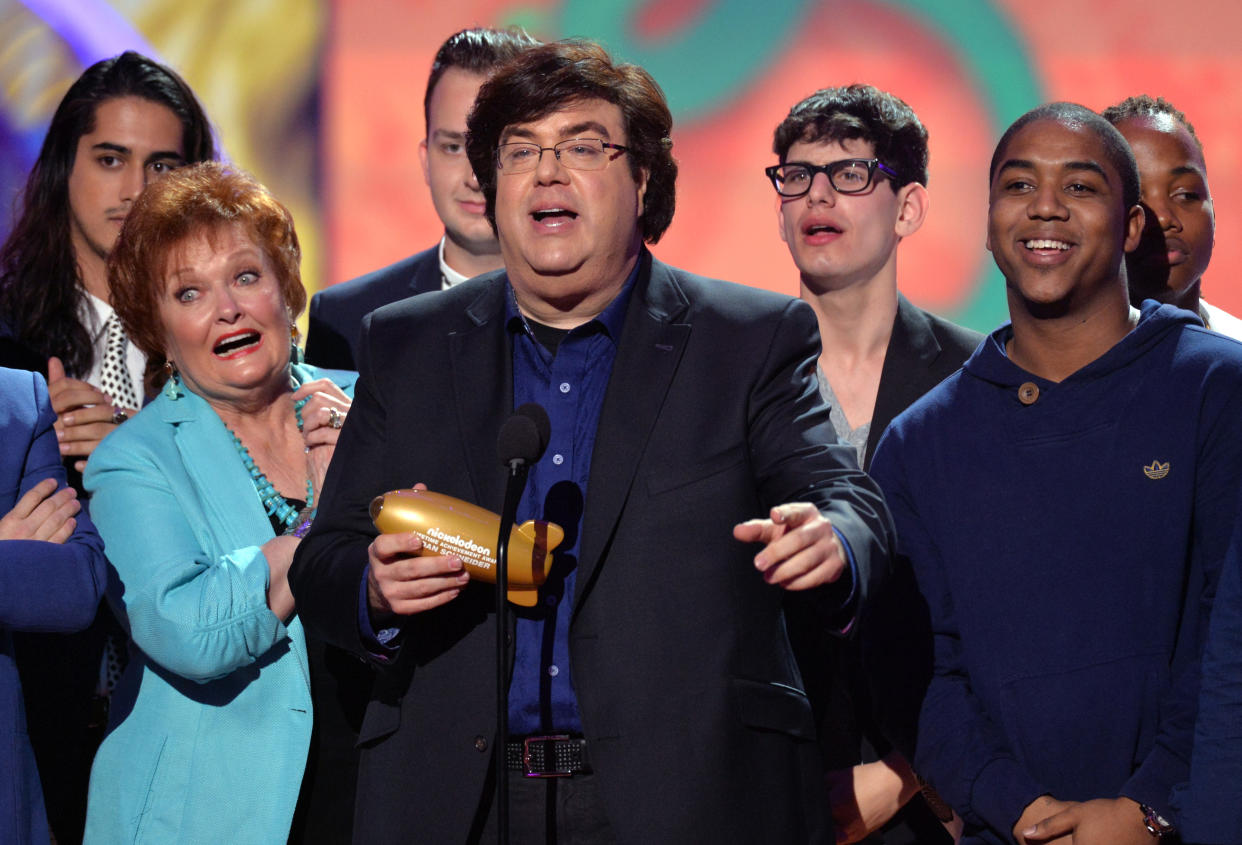
<path fill-rule="evenodd" d="M 507 127 L 499 143 L 599 138 L 625 145 L 623 127 L 620 108 L 589 99 Z M 534 170 L 501 170 L 496 181 L 496 226 L 519 307 L 563 328 L 600 313 L 637 261 L 646 175 L 636 181 L 616 150 L 600 170 L 571 170 L 546 150 Z"/>

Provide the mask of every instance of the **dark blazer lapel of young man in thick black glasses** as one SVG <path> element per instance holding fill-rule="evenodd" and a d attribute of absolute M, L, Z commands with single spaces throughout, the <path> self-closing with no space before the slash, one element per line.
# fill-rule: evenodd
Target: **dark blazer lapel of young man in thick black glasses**
<path fill-rule="evenodd" d="M 897 317 L 884 352 L 884 367 L 879 373 L 879 390 L 876 394 L 876 410 L 871 415 L 863 470 L 871 466 L 871 456 L 876 454 L 876 446 L 888 424 L 933 386 L 927 384 L 927 373 L 939 355 L 940 343 L 932 333 L 927 318 L 898 293 Z"/>

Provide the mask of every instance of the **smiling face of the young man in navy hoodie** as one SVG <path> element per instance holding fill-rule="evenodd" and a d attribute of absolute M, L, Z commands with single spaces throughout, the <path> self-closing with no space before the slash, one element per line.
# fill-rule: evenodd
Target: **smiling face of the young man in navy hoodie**
<path fill-rule="evenodd" d="M 1117 299 L 1124 254 L 1141 227 L 1141 210 L 1125 208 L 1120 176 L 1090 128 L 1035 121 L 997 155 L 987 249 L 1011 314 L 1059 317 Z"/>

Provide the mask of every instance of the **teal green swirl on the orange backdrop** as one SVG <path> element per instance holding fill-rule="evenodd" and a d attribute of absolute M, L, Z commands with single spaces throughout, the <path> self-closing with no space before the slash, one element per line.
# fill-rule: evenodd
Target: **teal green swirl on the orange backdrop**
<path fill-rule="evenodd" d="M 660 80 L 678 122 L 728 106 L 751 80 L 780 60 L 785 45 L 802 37 L 810 7 L 826 0 L 715 0 L 691 25 L 658 41 L 640 41 L 631 21 L 651 0 L 565 0 L 559 14 L 525 11 L 510 22 L 548 37 L 586 36 Z M 991 0 L 889 0 L 954 45 L 974 82 L 964 97 L 979 97 L 995 135 L 1043 102 L 1026 45 Z M 943 129 L 940 132 L 944 132 Z M 979 190 L 986 174 L 980 163 Z M 982 331 L 1007 316 L 1005 282 L 991 261 L 953 318 Z"/>

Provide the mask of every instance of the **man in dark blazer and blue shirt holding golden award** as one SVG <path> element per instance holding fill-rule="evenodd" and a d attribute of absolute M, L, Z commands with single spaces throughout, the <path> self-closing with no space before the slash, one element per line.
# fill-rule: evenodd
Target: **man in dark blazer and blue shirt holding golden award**
<path fill-rule="evenodd" d="M 356 841 L 494 841 L 497 743 L 515 843 L 832 840 L 785 611 L 852 625 L 888 517 L 832 435 L 811 309 L 646 249 L 673 216 L 671 132 L 655 80 L 595 43 L 518 56 L 467 134 L 504 270 L 364 322 L 289 574 L 303 623 L 380 667 Z M 497 737 L 492 585 L 376 537 L 368 507 L 424 482 L 499 511 L 497 431 L 524 403 L 550 440 L 518 519 L 565 541 L 514 609 Z"/>

